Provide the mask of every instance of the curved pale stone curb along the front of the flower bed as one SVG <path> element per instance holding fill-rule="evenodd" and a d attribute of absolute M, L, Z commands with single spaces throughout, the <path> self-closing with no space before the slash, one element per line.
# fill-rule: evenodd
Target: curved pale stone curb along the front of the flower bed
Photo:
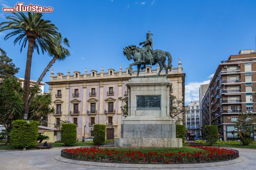
<path fill-rule="evenodd" d="M 99 167 L 114 167 L 114 168 L 157 168 L 157 169 L 177 169 L 177 168 L 204 168 L 213 166 L 232 165 L 244 162 L 244 157 L 239 157 L 233 160 L 227 160 L 223 162 L 212 163 L 200 163 L 200 164 L 122 164 L 122 163 L 102 163 L 102 162 L 89 162 L 81 160 L 66 159 L 60 155 L 54 157 L 55 160 L 64 163 L 78 164 L 78 165 L 90 165 Z"/>

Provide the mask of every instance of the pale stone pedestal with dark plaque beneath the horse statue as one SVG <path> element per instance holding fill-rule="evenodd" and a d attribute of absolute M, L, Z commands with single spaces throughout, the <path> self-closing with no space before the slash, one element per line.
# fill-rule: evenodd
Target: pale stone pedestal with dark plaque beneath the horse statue
<path fill-rule="evenodd" d="M 169 115 L 171 82 L 165 76 L 136 77 L 128 81 L 128 117 L 121 125 L 117 147 L 182 147 L 175 120 Z"/>

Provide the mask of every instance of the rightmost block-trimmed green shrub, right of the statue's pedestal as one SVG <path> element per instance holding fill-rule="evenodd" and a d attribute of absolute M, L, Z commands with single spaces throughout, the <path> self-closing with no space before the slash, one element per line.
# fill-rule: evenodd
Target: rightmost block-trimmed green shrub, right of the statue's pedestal
<path fill-rule="evenodd" d="M 212 146 L 213 143 L 219 139 L 218 126 L 217 125 L 206 125 L 205 128 L 205 139 L 208 144 Z"/>

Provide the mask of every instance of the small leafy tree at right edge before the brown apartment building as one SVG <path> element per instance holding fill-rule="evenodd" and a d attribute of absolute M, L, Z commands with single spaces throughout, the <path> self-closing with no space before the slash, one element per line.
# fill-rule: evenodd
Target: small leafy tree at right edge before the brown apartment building
<path fill-rule="evenodd" d="M 239 113 L 238 121 L 235 122 L 235 128 L 238 129 L 238 137 L 242 142 L 242 145 L 249 145 L 253 140 L 251 134 L 255 132 L 254 122 L 252 119 L 254 113 Z"/>

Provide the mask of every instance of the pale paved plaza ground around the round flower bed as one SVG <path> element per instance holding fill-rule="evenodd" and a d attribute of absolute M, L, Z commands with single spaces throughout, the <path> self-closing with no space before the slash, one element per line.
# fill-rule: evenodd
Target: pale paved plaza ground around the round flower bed
<path fill-rule="evenodd" d="M 234 160 L 230 160 L 227 162 L 217 162 L 217 163 L 208 163 L 208 164 L 190 164 L 190 165 L 141 165 L 137 164 L 140 168 L 130 168 L 130 164 L 124 164 L 123 168 L 120 164 L 110 164 L 110 163 L 92 163 L 87 165 L 81 164 L 74 164 L 79 163 L 75 160 L 67 160 L 61 158 L 60 151 L 63 148 L 52 148 L 52 149 L 42 149 L 42 150 L 30 150 L 30 151 L 0 151 L 0 165 L 1 169 L 3 170 L 105 170 L 105 169 L 114 169 L 114 170 L 121 170 L 121 169 L 177 169 L 183 168 L 188 170 L 222 170 L 222 169 L 237 169 L 237 170 L 255 170 L 256 161 L 256 149 L 242 149 L 242 148 L 235 148 L 239 151 L 240 157 Z M 58 159 L 58 160 L 56 160 Z M 62 160 L 68 161 L 70 163 L 61 162 Z M 236 163 L 240 162 L 240 163 Z M 86 162 L 84 163 L 86 164 Z M 226 164 L 226 165 L 223 165 Z M 228 164 L 228 165 L 227 165 Z M 96 165 L 96 166 L 95 166 Z M 113 165 L 113 167 L 107 167 L 109 165 Z M 134 165 L 134 164 L 133 164 Z M 209 166 L 209 167 L 202 167 L 202 166 Z M 216 166 L 215 166 L 216 165 Z M 117 168 L 117 167 L 122 168 Z M 167 168 L 169 166 L 169 168 Z M 146 168 L 148 167 L 148 168 Z M 172 167 L 172 168 L 170 168 Z M 191 167 L 191 168 L 188 168 Z M 201 168 L 200 168 L 201 167 Z"/>

